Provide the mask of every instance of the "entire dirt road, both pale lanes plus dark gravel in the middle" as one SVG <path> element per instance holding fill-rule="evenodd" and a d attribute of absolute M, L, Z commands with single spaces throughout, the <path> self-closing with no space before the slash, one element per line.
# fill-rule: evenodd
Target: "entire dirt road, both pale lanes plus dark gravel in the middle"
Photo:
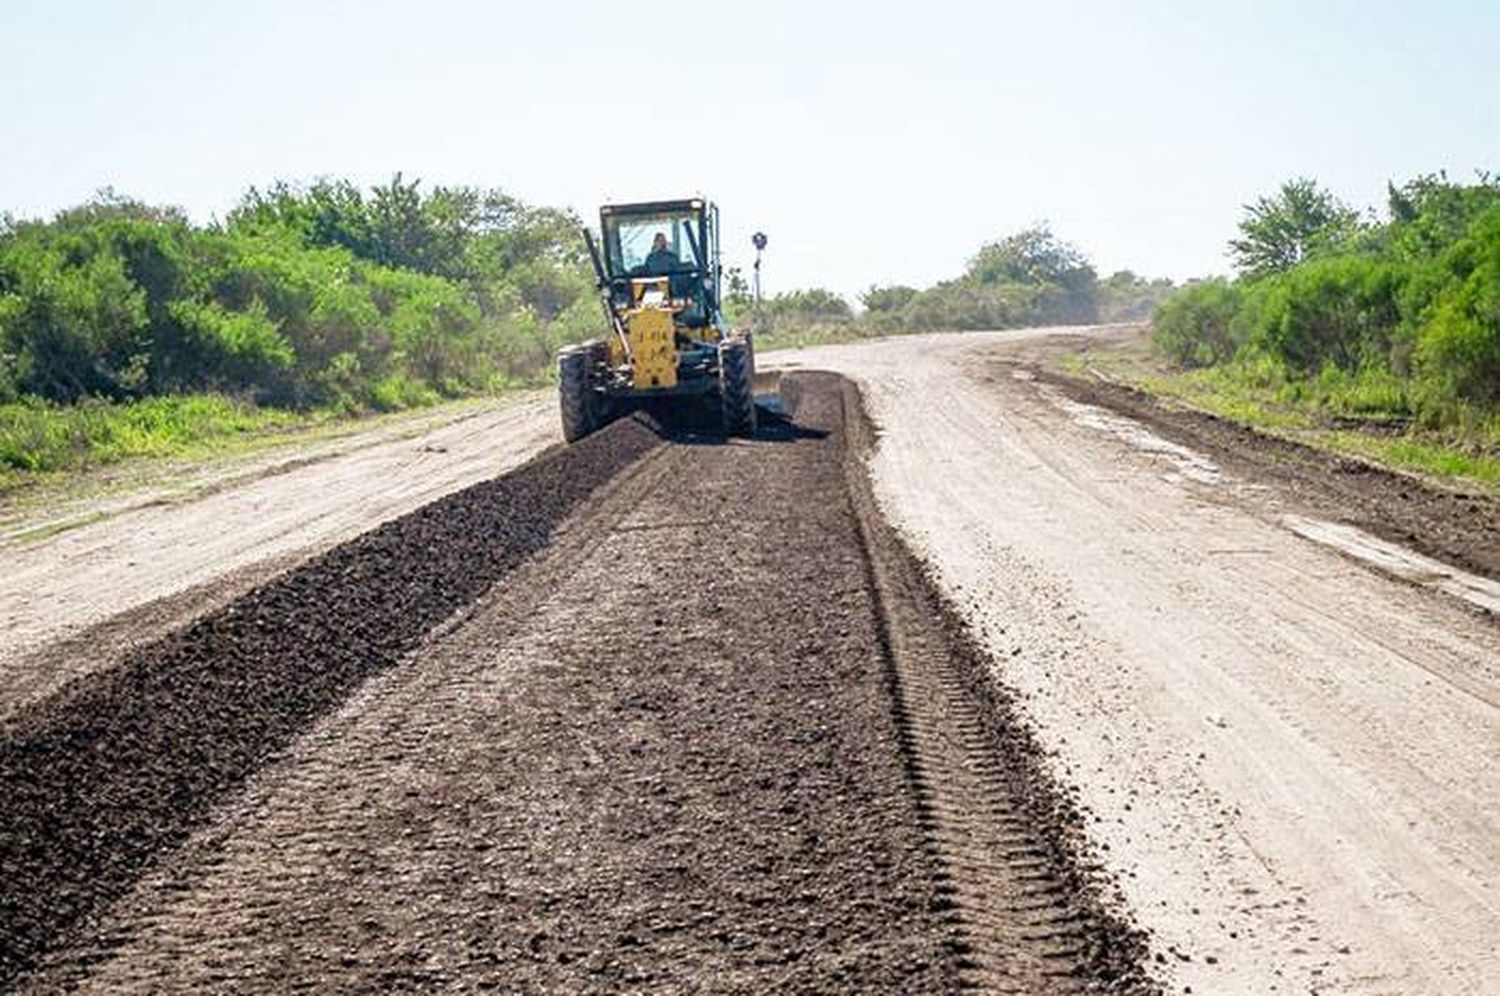
<path fill-rule="evenodd" d="M 1488 992 L 1492 582 L 1058 334 L 762 357 L 873 438 L 538 405 L 0 550 L 0 987 Z"/>

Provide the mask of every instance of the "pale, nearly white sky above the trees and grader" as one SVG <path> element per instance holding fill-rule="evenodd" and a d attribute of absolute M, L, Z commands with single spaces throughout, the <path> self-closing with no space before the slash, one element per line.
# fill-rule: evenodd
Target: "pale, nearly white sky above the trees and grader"
<path fill-rule="evenodd" d="M 596 224 L 705 194 L 768 291 L 926 285 L 1036 220 L 1184 279 L 1287 177 L 1500 170 L 1497 52 L 1492 0 L 0 0 L 0 212 L 399 170 Z"/>

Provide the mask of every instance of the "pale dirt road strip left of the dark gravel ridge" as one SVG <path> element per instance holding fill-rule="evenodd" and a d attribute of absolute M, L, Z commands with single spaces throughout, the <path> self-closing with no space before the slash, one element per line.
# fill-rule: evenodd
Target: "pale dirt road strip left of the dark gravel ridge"
<path fill-rule="evenodd" d="M 0 718 L 112 648 L 152 639 L 308 556 L 562 440 L 550 396 L 526 394 L 416 432 L 382 428 L 279 453 L 195 489 L 33 513 L 0 543 Z M 72 639 L 69 639 L 72 638 Z M 88 652 L 76 652 L 87 648 Z"/>

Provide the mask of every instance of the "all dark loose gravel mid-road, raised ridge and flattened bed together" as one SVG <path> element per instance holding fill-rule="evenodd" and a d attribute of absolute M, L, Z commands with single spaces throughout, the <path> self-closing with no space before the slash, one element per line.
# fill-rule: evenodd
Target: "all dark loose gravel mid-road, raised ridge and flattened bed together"
<path fill-rule="evenodd" d="M 20 987 L 1148 990 L 854 396 L 790 394 L 753 441 L 616 423 L 27 706 Z"/>

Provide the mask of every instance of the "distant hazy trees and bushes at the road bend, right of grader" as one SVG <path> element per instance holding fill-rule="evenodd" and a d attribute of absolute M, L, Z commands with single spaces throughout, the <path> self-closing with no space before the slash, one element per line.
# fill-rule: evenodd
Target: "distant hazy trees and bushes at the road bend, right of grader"
<path fill-rule="evenodd" d="M 742 284 L 732 308 L 750 312 Z M 1144 321 L 1173 291 L 1130 270 L 1100 279 L 1088 256 L 1046 225 L 987 243 L 968 268 L 928 288 L 872 286 L 856 310 L 820 288 L 777 294 L 762 304 L 766 346 L 844 342 L 915 332 L 966 332 L 1026 326 L 1083 326 Z"/>

